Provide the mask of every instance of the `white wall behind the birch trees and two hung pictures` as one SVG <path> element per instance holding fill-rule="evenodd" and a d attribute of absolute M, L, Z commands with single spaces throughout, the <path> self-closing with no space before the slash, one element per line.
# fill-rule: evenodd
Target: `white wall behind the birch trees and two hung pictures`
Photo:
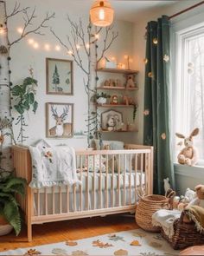
<path fill-rule="evenodd" d="M 36 6 L 35 22 L 39 22 L 43 19 L 43 16 L 49 12 L 55 12 L 54 20 L 50 21 L 49 25 L 54 28 L 56 33 L 66 40 L 66 36 L 70 35 L 69 24 L 67 23 L 67 14 L 71 16 L 74 21 L 78 21 L 81 17 L 83 24 L 88 22 L 88 12 L 82 10 L 80 7 L 80 1 L 73 0 L 59 0 L 59 1 L 41 1 L 41 0 L 21 0 L 19 1 L 22 7 L 30 6 L 33 8 Z M 12 7 L 16 3 L 16 0 L 7 1 L 8 12 L 12 10 Z M 17 36 L 16 28 L 21 27 L 23 23 L 22 16 L 15 16 L 9 23 L 10 39 L 11 41 Z M 35 24 L 35 23 L 34 23 Z M 118 30 L 119 36 L 115 43 L 112 44 L 112 48 L 109 50 L 107 56 L 118 57 L 118 62 L 124 62 L 124 54 L 133 56 L 133 24 L 128 22 L 116 21 L 115 30 Z M 67 56 L 65 51 L 56 51 L 54 47 L 59 45 L 53 35 L 46 31 L 46 36 L 32 35 L 27 39 L 33 38 L 39 43 L 39 49 L 34 49 L 26 40 L 21 43 L 15 44 L 11 49 L 11 80 L 13 84 L 22 82 L 22 79 L 29 76 L 29 67 L 34 69 L 35 78 L 38 81 L 37 89 L 37 101 L 39 102 L 39 108 L 36 115 L 29 114 L 29 128 L 26 135 L 29 135 L 28 143 L 32 143 L 40 138 L 45 138 L 45 103 L 46 102 L 71 102 L 74 103 L 74 130 L 80 131 L 86 129 L 86 113 L 87 113 L 87 97 L 83 85 L 83 72 L 73 64 L 73 96 L 63 95 L 46 95 L 46 66 L 45 58 L 61 58 L 72 59 Z M 43 31 L 43 32 L 44 32 Z M 43 49 L 44 44 L 49 43 L 51 46 L 50 51 Z M 103 43 L 101 38 L 101 43 Z M 82 56 L 82 61 L 86 62 L 85 56 Z M 16 113 L 14 111 L 14 115 Z M 15 134 L 18 130 L 15 127 Z M 48 140 L 48 139 L 47 139 Z M 51 144 L 59 144 L 67 142 L 67 144 L 75 148 L 86 148 L 86 138 L 72 138 L 68 140 L 48 140 Z"/>

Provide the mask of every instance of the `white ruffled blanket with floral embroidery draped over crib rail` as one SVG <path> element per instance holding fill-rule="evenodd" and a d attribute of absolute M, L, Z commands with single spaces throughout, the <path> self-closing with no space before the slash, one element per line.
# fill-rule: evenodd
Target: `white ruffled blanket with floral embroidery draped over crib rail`
<path fill-rule="evenodd" d="M 69 147 L 29 147 L 32 158 L 32 181 L 29 187 L 52 187 L 79 184 L 75 151 Z"/>

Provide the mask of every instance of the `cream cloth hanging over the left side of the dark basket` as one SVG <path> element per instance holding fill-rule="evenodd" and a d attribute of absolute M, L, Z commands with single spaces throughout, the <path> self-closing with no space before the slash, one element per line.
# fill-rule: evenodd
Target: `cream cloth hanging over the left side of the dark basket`
<path fill-rule="evenodd" d="M 152 215 L 152 225 L 161 226 L 164 233 L 171 238 L 174 235 L 174 222 L 180 215 L 181 212 L 178 210 L 160 209 Z"/>

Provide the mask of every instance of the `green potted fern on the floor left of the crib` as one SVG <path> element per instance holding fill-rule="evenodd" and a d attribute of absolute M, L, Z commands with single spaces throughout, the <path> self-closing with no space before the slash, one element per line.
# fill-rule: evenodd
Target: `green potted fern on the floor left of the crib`
<path fill-rule="evenodd" d="M 14 228 L 16 235 L 21 231 L 22 220 L 16 194 L 25 194 L 26 180 L 12 174 L 0 180 L 0 235 L 10 233 Z"/>

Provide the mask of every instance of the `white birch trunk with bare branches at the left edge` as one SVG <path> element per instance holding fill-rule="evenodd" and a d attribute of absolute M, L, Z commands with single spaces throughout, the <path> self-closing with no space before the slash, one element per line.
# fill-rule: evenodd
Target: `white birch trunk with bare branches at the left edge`
<path fill-rule="evenodd" d="M 7 24 L 11 23 L 12 17 L 16 15 L 22 15 L 24 23 L 20 36 L 10 42 Z M 54 13 L 47 14 L 40 23 L 33 25 L 36 18 L 35 8 L 33 10 L 30 10 L 29 7 L 21 8 L 20 3 L 16 3 L 11 13 L 8 14 L 6 1 L 0 0 L 0 122 L 5 120 L 8 122 L 8 125 L 2 127 L 0 123 L 0 136 L 2 138 L 0 141 L 0 176 L 13 171 L 10 148 L 15 140 L 11 116 L 10 49 L 31 34 L 43 36 L 42 30 L 48 27 L 48 22 L 54 18 Z"/>

